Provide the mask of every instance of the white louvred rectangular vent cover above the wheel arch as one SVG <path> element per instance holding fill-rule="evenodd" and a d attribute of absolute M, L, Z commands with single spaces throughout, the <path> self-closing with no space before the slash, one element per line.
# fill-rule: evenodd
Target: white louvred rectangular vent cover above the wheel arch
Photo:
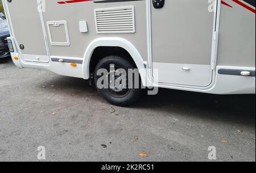
<path fill-rule="evenodd" d="M 95 9 L 97 33 L 134 33 L 134 6 Z"/>

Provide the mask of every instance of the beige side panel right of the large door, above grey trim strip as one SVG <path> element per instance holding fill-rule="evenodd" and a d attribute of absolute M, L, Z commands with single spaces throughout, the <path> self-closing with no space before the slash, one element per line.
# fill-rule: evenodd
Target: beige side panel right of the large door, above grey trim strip
<path fill-rule="evenodd" d="M 225 2 L 230 6 L 221 6 L 217 65 L 255 67 L 255 7 L 241 1 L 253 12 L 234 1 Z"/>

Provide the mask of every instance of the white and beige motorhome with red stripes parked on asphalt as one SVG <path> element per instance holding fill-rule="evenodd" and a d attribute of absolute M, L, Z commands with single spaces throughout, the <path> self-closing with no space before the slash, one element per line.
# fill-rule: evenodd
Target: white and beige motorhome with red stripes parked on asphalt
<path fill-rule="evenodd" d="M 11 56 L 20 68 L 97 82 L 97 70 L 112 64 L 138 69 L 145 87 L 255 94 L 255 0 L 3 0 L 3 5 Z M 98 91 L 121 106 L 141 93 Z"/>

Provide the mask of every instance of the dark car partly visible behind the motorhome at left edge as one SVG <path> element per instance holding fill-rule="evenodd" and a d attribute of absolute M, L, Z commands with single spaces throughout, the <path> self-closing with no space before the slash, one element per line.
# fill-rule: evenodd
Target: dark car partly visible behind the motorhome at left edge
<path fill-rule="evenodd" d="M 9 27 L 6 19 L 0 17 L 0 58 L 10 57 L 6 38 L 10 36 Z"/>

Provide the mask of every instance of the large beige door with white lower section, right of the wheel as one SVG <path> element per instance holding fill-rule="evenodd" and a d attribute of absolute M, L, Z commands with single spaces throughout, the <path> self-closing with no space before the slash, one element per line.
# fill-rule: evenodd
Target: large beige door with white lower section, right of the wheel
<path fill-rule="evenodd" d="M 214 1 L 167 0 L 160 1 L 158 8 L 152 2 L 152 68 L 158 69 L 158 73 L 152 71 L 155 81 L 210 85 Z"/>

